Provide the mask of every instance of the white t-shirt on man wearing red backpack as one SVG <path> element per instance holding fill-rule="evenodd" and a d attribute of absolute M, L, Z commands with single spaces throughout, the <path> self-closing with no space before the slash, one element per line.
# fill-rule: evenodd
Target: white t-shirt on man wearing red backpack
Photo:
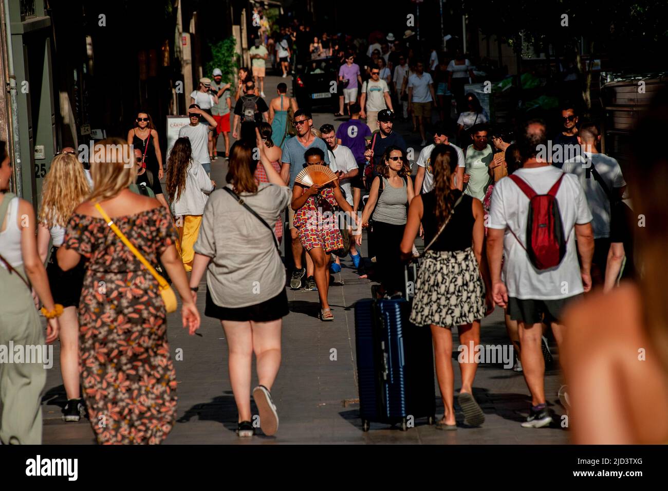
<path fill-rule="evenodd" d="M 514 175 L 524 179 L 538 194 L 546 194 L 563 173 L 554 166 L 520 168 Z M 529 198 L 510 178 L 494 185 L 488 228 L 506 229 L 504 235 L 504 281 L 508 297 L 516 299 L 558 300 L 584 292 L 575 245 L 575 224 L 592 220 L 585 191 L 577 176 L 565 174 L 556 192 L 561 221 L 566 234 L 566 255 L 560 265 L 538 271 L 530 263 L 526 246 Z M 512 233 L 507 228 L 512 230 Z M 515 234 L 515 235 L 513 235 Z M 518 242 L 522 240 L 522 245 Z"/>

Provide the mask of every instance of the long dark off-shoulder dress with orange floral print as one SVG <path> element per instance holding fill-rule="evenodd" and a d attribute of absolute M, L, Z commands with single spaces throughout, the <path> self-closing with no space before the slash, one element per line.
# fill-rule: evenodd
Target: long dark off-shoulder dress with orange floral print
<path fill-rule="evenodd" d="M 162 206 L 114 222 L 154 264 L 178 237 Z M 79 354 L 98 443 L 159 444 L 176 417 L 176 371 L 158 283 L 103 218 L 74 214 L 63 244 L 88 259 Z"/>

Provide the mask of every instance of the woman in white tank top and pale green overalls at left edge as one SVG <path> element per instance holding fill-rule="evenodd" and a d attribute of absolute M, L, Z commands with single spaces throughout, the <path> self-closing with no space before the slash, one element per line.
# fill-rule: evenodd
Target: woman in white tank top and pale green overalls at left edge
<path fill-rule="evenodd" d="M 45 341 L 52 343 L 58 337 L 57 317 L 62 307 L 57 308 L 53 302 L 46 270 L 39 261 L 33 207 L 9 192 L 12 175 L 7 145 L 0 141 L 0 345 L 41 347 Z M 33 289 L 48 319 L 46 340 Z M 44 365 L 25 363 L 29 361 L 25 359 L 12 361 L 0 363 L 0 444 L 39 445 Z"/>

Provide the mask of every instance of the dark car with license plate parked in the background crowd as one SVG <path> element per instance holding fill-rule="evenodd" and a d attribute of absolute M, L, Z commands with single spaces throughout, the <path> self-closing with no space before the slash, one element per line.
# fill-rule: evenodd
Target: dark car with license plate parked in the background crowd
<path fill-rule="evenodd" d="M 297 67 L 293 77 L 293 94 L 300 108 L 313 110 L 315 107 L 339 110 L 337 80 L 339 59 L 325 57 L 305 61 Z"/>

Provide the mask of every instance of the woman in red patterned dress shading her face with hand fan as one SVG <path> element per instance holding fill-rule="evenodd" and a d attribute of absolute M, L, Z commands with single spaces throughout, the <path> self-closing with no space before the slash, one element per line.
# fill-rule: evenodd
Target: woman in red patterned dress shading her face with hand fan
<path fill-rule="evenodd" d="M 334 315 L 327 303 L 329 289 L 329 260 L 332 251 L 343 249 L 335 212 L 337 207 L 349 216 L 357 216 L 341 194 L 339 180 L 325 164 L 325 154 L 320 148 L 309 148 L 304 154 L 305 169 L 295 179 L 292 208 L 295 210 L 295 228 L 299 240 L 307 250 L 315 271 L 315 284 L 320 297 L 321 321 L 333 321 Z M 321 166 L 316 168 L 315 166 Z M 361 244 L 361 230 L 355 234 L 355 242 Z"/>

